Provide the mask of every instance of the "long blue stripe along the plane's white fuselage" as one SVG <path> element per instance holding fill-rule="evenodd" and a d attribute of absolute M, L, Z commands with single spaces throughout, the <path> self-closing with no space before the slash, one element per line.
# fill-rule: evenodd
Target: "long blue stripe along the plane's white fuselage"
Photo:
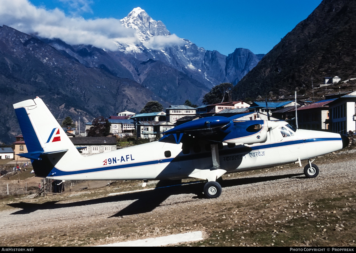
<path fill-rule="evenodd" d="M 252 150 L 261 150 L 261 149 L 268 149 L 268 148 L 278 148 L 283 146 L 295 145 L 295 144 L 303 144 L 303 143 L 310 143 L 310 142 L 320 142 L 320 141 L 341 141 L 341 138 L 310 138 L 310 139 L 300 139 L 300 140 L 290 140 L 290 141 L 281 141 L 278 143 L 269 143 L 263 144 L 258 146 L 251 146 L 251 147 L 243 147 L 243 148 L 231 148 L 227 150 L 220 150 L 219 155 L 231 154 L 231 153 L 249 153 Z M 250 149 L 250 150 L 247 150 Z M 109 171 L 109 170 L 117 170 L 117 169 L 127 169 L 132 167 L 140 167 L 146 165 L 155 165 L 160 163 L 167 163 L 167 162 L 178 162 L 178 161 L 187 161 L 187 160 L 195 160 L 201 158 L 208 158 L 211 157 L 210 152 L 205 152 L 201 154 L 193 154 L 193 155 L 179 155 L 175 158 L 166 158 L 161 160 L 151 160 L 151 161 L 143 161 L 143 162 L 135 162 L 131 164 L 120 164 L 120 165 L 112 165 L 107 167 L 96 167 L 92 169 L 84 169 L 84 170 L 76 170 L 76 171 L 62 171 L 57 169 L 56 167 L 53 168 L 51 173 L 48 174 L 48 177 L 57 177 L 57 176 L 71 176 L 71 175 L 78 175 L 78 174 L 86 174 L 98 171 Z M 56 172 L 53 174 L 53 172 Z"/>

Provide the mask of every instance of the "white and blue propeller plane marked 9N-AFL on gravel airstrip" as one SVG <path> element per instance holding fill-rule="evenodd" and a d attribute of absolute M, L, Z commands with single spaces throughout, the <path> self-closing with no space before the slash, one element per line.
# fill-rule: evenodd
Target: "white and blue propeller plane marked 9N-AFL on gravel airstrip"
<path fill-rule="evenodd" d="M 308 159 L 306 177 L 319 174 L 310 158 L 346 147 L 346 136 L 296 129 L 284 121 L 234 121 L 206 117 L 178 125 L 159 141 L 84 157 L 43 101 L 14 104 L 36 176 L 57 180 L 207 180 L 204 194 L 217 198 L 216 181 L 232 172 L 263 169 Z"/>

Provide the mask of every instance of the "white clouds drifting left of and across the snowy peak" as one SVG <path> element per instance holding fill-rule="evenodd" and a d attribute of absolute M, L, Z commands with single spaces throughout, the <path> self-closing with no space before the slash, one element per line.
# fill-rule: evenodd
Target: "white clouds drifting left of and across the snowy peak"
<path fill-rule="evenodd" d="M 82 11 L 90 11 L 90 0 L 62 0 Z M 27 0 L 0 0 L 0 25 L 13 27 L 21 32 L 45 38 L 60 38 L 66 43 L 88 44 L 115 51 L 117 43 L 140 43 L 137 31 L 121 25 L 118 19 L 88 19 L 68 17 L 58 8 L 46 10 Z M 115 43 L 117 42 L 117 43 Z M 159 49 L 181 44 L 176 35 L 155 36 L 145 46 Z"/>

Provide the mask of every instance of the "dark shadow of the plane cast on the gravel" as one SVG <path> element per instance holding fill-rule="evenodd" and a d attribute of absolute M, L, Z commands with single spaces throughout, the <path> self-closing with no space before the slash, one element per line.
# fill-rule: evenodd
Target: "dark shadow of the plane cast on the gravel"
<path fill-rule="evenodd" d="M 278 176 L 245 177 L 241 179 L 225 179 L 223 182 L 221 182 L 221 187 L 224 188 L 224 187 L 230 187 L 236 185 L 246 185 L 246 184 L 252 184 L 257 182 L 266 182 L 266 181 L 290 178 L 290 177 L 295 177 L 300 175 L 303 175 L 303 173 L 278 175 Z M 305 179 L 305 177 L 298 177 L 298 178 Z M 174 184 L 176 184 L 176 182 L 174 182 Z M 86 206 L 86 205 L 94 205 L 94 204 L 106 203 L 106 202 L 136 200 L 130 205 L 128 205 L 127 207 L 125 207 L 124 209 L 110 216 L 110 217 L 117 217 L 117 216 L 134 215 L 139 213 L 150 212 L 154 210 L 156 207 L 158 207 L 159 205 L 161 205 L 161 203 L 171 195 L 193 193 L 197 195 L 193 198 L 205 198 L 205 195 L 203 193 L 204 184 L 205 182 L 196 181 L 193 182 L 192 184 L 173 185 L 173 186 L 171 184 L 170 187 L 165 187 L 166 182 L 159 181 L 156 189 L 150 191 L 124 193 L 122 195 L 108 196 L 108 197 L 96 198 L 93 200 L 84 200 L 84 201 L 77 201 L 72 203 L 57 203 L 59 201 L 47 201 L 42 204 L 19 202 L 19 203 L 7 204 L 7 205 L 15 208 L 21 208 L 22 210 L 11 213 L 12 215 L 21 215 L 21 214 L 32 213 L 37 210 L 53 210 L 57 208 Z"/>

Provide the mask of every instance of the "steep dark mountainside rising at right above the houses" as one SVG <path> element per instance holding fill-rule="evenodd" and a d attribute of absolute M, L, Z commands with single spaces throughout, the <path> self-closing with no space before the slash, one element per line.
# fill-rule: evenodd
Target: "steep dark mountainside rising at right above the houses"
<path fill-rule="evenodd" d="M 356 77 L 356 2 L 324 0 L 290 31 L 234 89 L 235 98 L 289 95 L 324 77 Z"/>

